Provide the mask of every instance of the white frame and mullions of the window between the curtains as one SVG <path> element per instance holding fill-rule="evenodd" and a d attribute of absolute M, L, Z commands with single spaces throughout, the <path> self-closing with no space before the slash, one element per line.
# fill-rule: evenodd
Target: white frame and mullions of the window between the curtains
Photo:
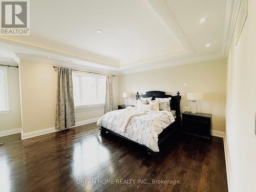
<path fill-rule="evenodd" d="M 79 72 L 72 72 L 72 77 L 78 76 L 79 77 L 79 85 L 80 85 L 80 99 L 82 98 L 82 77 L 94 77 L 96 78 L 96 98 L 98 98 L 98 79 L 106 78 L 104 75 L 93 75 L 88 73 L 79 73 Z M 84 109 L 84 108 L 94 108 L 96 106 L 104 106 L 104 103 L 97 103 L 97 104 L 87 104 L 87 105 L 78 105 L 75 106 L 75 109 Z"/>

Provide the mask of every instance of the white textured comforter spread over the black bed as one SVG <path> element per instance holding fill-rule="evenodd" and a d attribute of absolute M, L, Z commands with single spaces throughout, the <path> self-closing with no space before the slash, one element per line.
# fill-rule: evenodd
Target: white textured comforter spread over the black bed
<path fill-rule="evenodd" d="M 117 127 L 117 119 L 124 110 L 106 113 L 97 121 L 97 125 L 159 152 L 158 135 L 175 121 L 173 114 L 168 111 L 145 111 L 144 114 L 132 116 L 123 132 Z"/>

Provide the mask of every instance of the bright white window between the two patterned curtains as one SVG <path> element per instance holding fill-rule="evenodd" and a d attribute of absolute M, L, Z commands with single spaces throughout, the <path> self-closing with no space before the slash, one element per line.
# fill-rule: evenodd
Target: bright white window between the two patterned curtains
<path fill-rule="evenodd" d="M 106 77 L 72 73 L 75 107 L 105 103 Z"/>

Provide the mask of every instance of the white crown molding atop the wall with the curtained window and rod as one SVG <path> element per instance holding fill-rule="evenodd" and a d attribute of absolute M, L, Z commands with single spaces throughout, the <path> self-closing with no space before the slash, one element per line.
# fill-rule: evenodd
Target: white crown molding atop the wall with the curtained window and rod
<path fill-rule="evenodd" d="M 92 68 L 92 67 L 88 67 L 88 66 L 82 66 L 77 63 L 69 63 L 69 62 L 59 61 L 59 60 L 55 60 L 55 59 L 46 59 L 46 58 L 36 57 L 33 55 L 27 55 L 27 54 L 22 54 L 22 53 L 15 53 L 15 56 L 16 56 L 16 60 L 18 61 L 18 63 L 20 62 L 20 59 L 25 59 L 25 60 L 35 61 L 35 62 L 46 63 L 49 65 L 73 68 L 73 69 L 77 69 L 77 70 L 90 70 L 92 72 L 120 75 L 119 71 L 110 71 L 110 70 Z"/>

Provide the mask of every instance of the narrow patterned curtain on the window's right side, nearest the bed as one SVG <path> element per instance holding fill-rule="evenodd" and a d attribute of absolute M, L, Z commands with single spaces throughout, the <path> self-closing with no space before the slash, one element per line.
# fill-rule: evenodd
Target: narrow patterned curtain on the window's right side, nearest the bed
<path fill-rule="evenodd" d="M 105 100 L 105 113 L 114 110 L 113 99 L 113 76 L 106 75 L 106 100 Z"/>

